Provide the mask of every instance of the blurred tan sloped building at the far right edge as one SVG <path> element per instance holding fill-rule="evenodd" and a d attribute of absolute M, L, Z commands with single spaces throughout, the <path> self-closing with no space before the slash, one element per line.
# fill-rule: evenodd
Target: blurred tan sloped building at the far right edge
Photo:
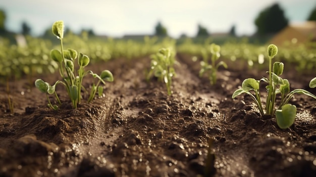
<path fill-rule="evenodd" d="M 301 44 L 316 42 L 316 21 L 307 21 L 300 24 L 290 24 L 277 33 L 270 43 L 275 45 Z"/>

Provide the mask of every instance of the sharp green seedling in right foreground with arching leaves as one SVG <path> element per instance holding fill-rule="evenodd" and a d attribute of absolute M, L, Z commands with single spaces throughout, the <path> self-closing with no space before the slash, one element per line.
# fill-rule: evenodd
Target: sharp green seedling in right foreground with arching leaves
<path fill-rule="evenodd" d="M 242 82 L 241 88 L 237 89 L 232 98 L 235 98 L 242 93 L 246 93 L 255 102 L 258 106 L 261 115 L 268 114 L 273 115 L 275 113 L 277 124 L 281 129 L 289 128 L 293 123 L 296 116 L 296 106 L 289 104 L 289 100 L 293 97 L 294 93 L 302 93 L 307 96 L 310 96 L 316 99 L 316 96 L 312 93 L 303 90 L 303 89 L 295 89 L 290 92 L 290 83 L 287 79 L 282 79 L 280 75 L 283 73 L 284 64 L 280 62 L 275 62 L 272 68 L 272 59 L 278 53 L 278 47 L 274 44 L 270 44 L 268 46 L 268 55 L 269 55 L 269 78 L 262 78 L 261 80 L 255 80 L 253 78 L 245 79 Z M 268 83 L 267 91 L 267 103 L 266 103 L 266 111 L 264 111 L 264 107 L 262 106 L 259 92 L 259 82 L 264 81 Z M 313 81 L 312 86 L 316 86 L 316 81 Z M 311 84 L 310 84 L 311 85 Z M 252 94 L 250 91 L 253 91 Z M 275 109 L 275 101 L 276 95 L 280 94 L 281 101 L 277 109 Z"/>

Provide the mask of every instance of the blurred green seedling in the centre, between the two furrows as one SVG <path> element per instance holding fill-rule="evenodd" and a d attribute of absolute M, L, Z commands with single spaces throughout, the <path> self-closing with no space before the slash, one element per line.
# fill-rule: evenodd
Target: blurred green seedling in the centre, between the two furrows
<path fill-rule="evenodd" d="M 151 55 L 150 71 L 147 81 L 152 75 L 166 83 L 168 95 L 171 95 L 172 77 L 176 74 L 173 65 L 175 63 L 174 53 L 170 48 L 161 48 L 159 52 Z"/>

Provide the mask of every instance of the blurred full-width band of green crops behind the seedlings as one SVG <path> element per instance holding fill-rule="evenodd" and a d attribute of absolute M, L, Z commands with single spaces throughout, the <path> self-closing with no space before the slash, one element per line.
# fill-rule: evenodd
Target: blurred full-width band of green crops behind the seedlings
<path fill-rule="evenodd" d="M 211 53 L 207 47 L 212 41 L 205 39 L 204 43 L 193 43 L 188 39 L 177 45 L 179 53 L 205 57 Z M 91 63 L 108 61 L 114 58 L 142 57 L 155 53 L 162 47 L 175 47 L 176 40 L 157 37 L 145 37 L 142 41 L 123 39 L 88 39 L 74 34 L 64 38 L 65 48 L 76 48 L 91 58 Z M 26 45 L 10 44 L 9 40 L 0 38 L 0 77 L 21 78 L 24 75 L 33 76 L 45 72 L 57 71 L 57 63 L 49 57 L 49 51 L 58 48 L 51 41 L 41 38 L 26 37 Z M 294 64 L 297 71 L 312 71 L 316 68 L 316 49 L 306 45 L 279 47 L 280 52 L 275 60 L 287 64 Z M 229 63 L 238 62 L 248 67 L 265 68 L 268 64 L 266 46 L 250 44 L 246 40 L 241 42 L 228 41 L 221 45 L 221 56 Z M 234 66 L 238 66 L 235 65 Z"/>

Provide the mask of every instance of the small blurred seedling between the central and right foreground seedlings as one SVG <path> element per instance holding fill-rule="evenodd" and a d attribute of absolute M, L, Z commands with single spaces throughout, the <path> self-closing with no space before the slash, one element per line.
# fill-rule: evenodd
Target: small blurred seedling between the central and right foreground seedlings
<path fill-rule="evenodd" d="M 217 70 L 220 66 L 223 66 L 227 69 L 227 65 L 225 62 L 221 61 L 216 63 L 221 56 L 221 47 L 216 45 L 215 43 L 210 44 L 209 46 L 210 53 L 212 54 L 212 60 L 209 63 L 208 54 L 206 50 L 202 50 L 203 61 L 201 61 L 201 70 L 199 72 L 199 76 L 202 77 L 204 73 L 208 74 L 208 78 L 210 80 L 210 84 L 215 85 L 217 81 Z"/>

